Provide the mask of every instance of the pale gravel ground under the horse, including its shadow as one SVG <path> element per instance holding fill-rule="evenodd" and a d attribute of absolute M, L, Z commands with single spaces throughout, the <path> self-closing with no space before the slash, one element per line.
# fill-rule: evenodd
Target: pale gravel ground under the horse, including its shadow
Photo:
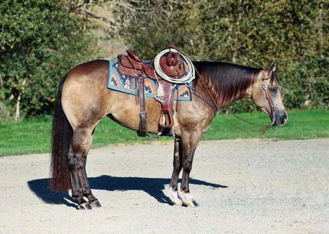
<path fill-rule="evenodd" d="M 329 139 L 201 142 L 190 190 L 172 206 L 173 144 L 93 149 L 102 206 L 75 210 L 48 189 L 49 156 L 0 158 L 0 233 L 329 233 Z"/>

